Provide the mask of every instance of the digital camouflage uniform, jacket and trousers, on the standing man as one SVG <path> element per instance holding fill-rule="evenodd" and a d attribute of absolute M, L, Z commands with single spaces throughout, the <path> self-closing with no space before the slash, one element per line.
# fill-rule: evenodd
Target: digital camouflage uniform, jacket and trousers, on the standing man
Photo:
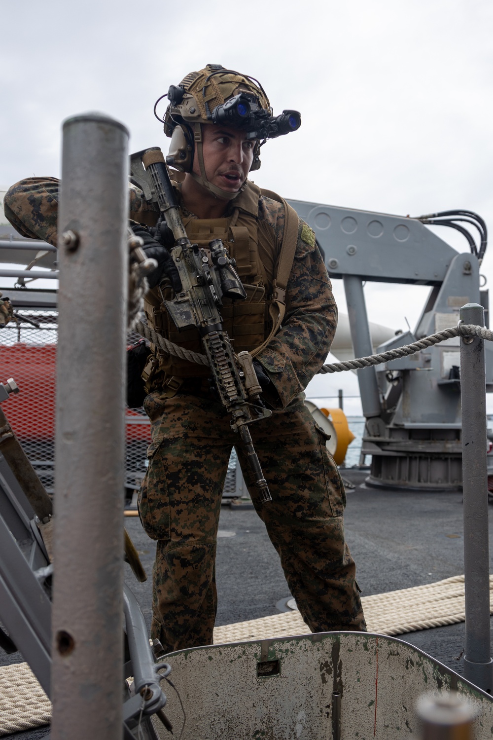
<path fill-rule="evenodd" d="M 259 195 L 256 186 L 251 184 L 249 189 L 250 212 L 239 208 L 239 221 L 243 218 L 243 223 L 253 223 L 248 218 L 254 219 L 258 230 L 256 256 L 262 265 L 251 269 L 250 276 L 242 280 L 258 283 L 262 273 L 264 295 L 268 295 L 285 214 L 280 203 Z M 30 178 L 7 192 L 5 213 L 21 234 L 55 243 L 57 201 L 58 181 Z M 238 215 L 239 202 L 247 201 L 235 198 L 225 217 L 231 219 L 234 212 Z M 132 218 L 140 223 L 152 225 L 156 221 L 157 213 L 137 189 L 130 191 L 130 210 Z M 197 236 L 194 216 L 184 208 L 183 218 L 190 238 L 192 234 Z M 279 554 L 290 592 L 310 629 L 365 630 L 356 568 L 344 539 L 344 486 L 327 452 L 324 432 L 313 422 L 302 392 L 330 350 L 336 330 L 336 303 L 313 232 L 300 221 L 298 234 L 282 328 L 256 356 L 271 380 L 264 395 L 273 414 L 268 420 L 252 424 L 250 430 L 273 500 L 261 503 L 253 485 L 249 491 Z M 231 234 L 226 246 L 234 252 Z M 252 277 L 253 273 L 257 277 Z M 157 293 L 151 291 L 146 314 L 154 326 L 159 325 L 159 313 Z M 270 328 L 267 315 L 264 337 Z M 252 320 L 258 320 L 258 315 Z M 225 321 L 228 333 L 234 333 L 235 321 L 234 317 Z M 165 333 L 162 324 L 157 329 Z M 242 331 L 247 332 L 245 324 L 236 339 L 232 337 L 234 349 L 253 349 L 242 346 Z M 185 337 L 182 343 L 194 346 L 193 337 L 189 339 Z M 145 402 L 152 443 L 149 468 L 140 490 L 140 518 L 147 534 L 157 540 L 152 636 L 160 639 L 165 650 L 177 650 L 212 642 L 217 608 L 217 526 L 222 487 L 237 436 L 231 431 L 228 414 L 211 392 L 206 369 L 204 372 L 193 363 L 163 355 L 157 360 L 152 392 Z M 177 374 L 185 380 L 173 393 L 167 383 Z M 242 470 L 248 470 L 241 449 L 237 452 Z M 247 484 L 250 482 L 247 480 Z"/>

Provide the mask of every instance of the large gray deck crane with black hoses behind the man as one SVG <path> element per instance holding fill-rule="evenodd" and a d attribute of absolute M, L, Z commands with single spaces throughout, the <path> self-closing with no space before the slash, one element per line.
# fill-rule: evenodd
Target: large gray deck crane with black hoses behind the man
<path fill-rule="evenodd" d="M 459 308 L 484 306 L 480 264 L 486 250 L 483 219 L 470 211 L 419 218 L 290 201 L 315 230 L 332 278 L 344 281 L 356 357 L 412 343 L 457 326 Z M 425 224 L 457 229 L 470 251 L 459 254 Z M 479 232 L 478 244 L 464 226 Z M 397 334 L 373 348 L 363 283 L 430 286 L 414 332 Z M 486 280 L 485 280 L 486 282 Z M 366 418 L 363 455 L 371 455 L 370 485 L 447 490 L 462 484 L 460 451 L 459 338 L 392 362 L 358 370 Z M 493 391 L 493 348 L 486 343 L 486 390 Z"/>

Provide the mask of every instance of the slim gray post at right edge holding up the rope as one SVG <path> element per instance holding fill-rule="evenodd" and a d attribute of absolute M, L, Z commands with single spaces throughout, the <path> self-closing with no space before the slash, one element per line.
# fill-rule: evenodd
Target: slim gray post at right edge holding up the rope
<path fill-rule="evenodd" d="M 466 303 L 460 309 L 460 320 L 484 326 L 483 306 Z M 491 692 L 485 351 L 484 341 L 477 337 L 460 340 L 460 395 L 466 579 L 464 676 Z"/>

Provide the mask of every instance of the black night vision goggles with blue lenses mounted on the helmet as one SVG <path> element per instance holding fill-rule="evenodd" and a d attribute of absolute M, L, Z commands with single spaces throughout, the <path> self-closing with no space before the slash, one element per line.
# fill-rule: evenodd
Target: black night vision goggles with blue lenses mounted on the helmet
<path fill-rule="evenodd" d="M 211 120 L 213 124 L 245 130 L 248 139 L 276 138 L 296 131 L 302 125 L 302 117 L 297 110 L 283 110 L 281 115 L 274 117 L 259 106 L 255 95 L 248 92 L 240 92 L 215 107 Z"/>

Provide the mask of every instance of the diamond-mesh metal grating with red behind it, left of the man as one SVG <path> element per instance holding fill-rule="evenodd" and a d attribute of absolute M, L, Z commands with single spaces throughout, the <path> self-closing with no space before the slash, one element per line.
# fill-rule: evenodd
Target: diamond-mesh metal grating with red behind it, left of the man
<path fill-rule="evenodd" d="M 0 330 L 0 382 L 13 377 L 20 389 L 4 401 L 7 419 L 49 493 L 55 473 L 55 378 L 58 312 L 56 309 L 23 309 L 39 324 L 7 324 Z M 131 345 L 140 334 L 128 335 Z M 126 488 L 139 488 L 146 473 L 150 423 L 143 408 L 126 409 Z M 239 473 L 241 475 L 241 472 Z M 233 451 L 223 495 L 236 497 L 237 457 Z"/>

